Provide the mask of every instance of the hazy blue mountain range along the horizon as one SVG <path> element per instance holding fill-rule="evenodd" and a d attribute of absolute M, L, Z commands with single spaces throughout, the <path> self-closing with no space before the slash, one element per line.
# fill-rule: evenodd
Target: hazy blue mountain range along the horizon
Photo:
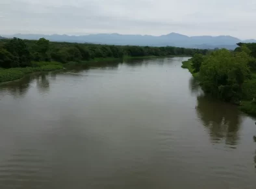
<path fill-rule="evenodd" d="M 43 34 L 14 34 L 5 36 L 7 38 L 40 39 L 45 38 L 50 41 L 66 41 L 76 43 L 99 43 L 108 45 L 142 45 L 142 46 L 175 46 L 198 49 L 226 48 L 235 49 L 237 43 L 256 43 L 255 39 L 242 41 L 232 36 L 192 36 L 170 33 L 162 36 L 149 35 L 122 35 L 122 34 L 89 34 L 86 36 L 68 35 L 43 35 Z"/>

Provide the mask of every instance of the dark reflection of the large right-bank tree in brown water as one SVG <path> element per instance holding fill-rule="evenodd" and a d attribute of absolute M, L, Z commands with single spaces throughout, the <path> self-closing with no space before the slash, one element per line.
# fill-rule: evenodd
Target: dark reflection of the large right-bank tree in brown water
<path fill-rule="evenodd" d="M 225 139 L 226 144 L 237 144 L 241 122 L 237 107 L 200 95 L 196 110 L 203 125 L 209 129 L 212 142 Z"/>

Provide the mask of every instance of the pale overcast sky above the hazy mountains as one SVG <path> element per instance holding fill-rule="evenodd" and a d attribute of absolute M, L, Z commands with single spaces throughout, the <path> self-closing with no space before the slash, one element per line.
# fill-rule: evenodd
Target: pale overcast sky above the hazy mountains
<path fill-rule="evenodd" d="M 229 35 L 256 39 L 255 0 L 1 0 L 0 35 Z"/>

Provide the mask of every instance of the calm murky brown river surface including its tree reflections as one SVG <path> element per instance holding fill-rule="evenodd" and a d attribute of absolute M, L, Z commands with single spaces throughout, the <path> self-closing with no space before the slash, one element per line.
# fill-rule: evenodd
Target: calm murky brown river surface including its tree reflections
<path fill-rule="evenodd" d="M 0 85 L 0 188 L 255 189 L 255 120 L 204 96 L 187 59 Z"/>

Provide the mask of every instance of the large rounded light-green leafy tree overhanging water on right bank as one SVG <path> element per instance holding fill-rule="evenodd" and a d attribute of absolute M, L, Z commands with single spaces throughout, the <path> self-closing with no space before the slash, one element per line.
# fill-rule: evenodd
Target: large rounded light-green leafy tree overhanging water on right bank
<path fill-rule="evenodd" d="M 242 83 L 250 77 L 246 52 L 233 54 L 222 49 L 212 52 L 203 61 L 199 78 L 206 93 L 227 102 L 237 102 L 242 97 Z"/>

